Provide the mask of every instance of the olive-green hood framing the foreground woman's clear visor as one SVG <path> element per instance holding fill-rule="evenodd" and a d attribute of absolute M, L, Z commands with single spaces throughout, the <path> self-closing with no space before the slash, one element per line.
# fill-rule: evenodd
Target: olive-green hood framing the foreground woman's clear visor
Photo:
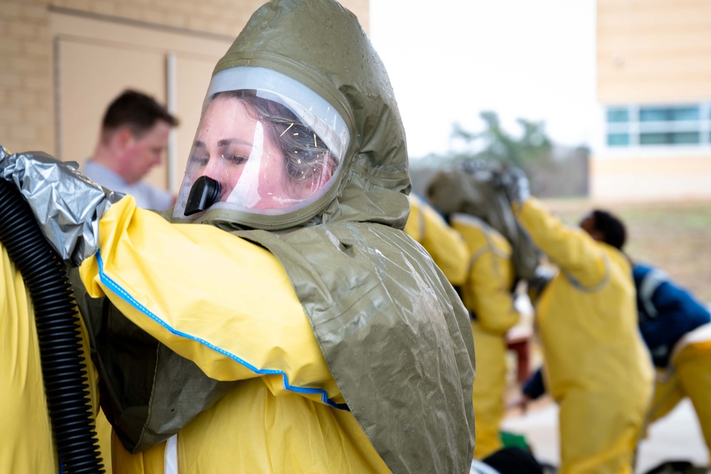
<path fill-rule="evenodd" d="M 338 151 L 337 174 L 328 190 L 301 208 L 264 214 L 218 203 L 192 222 L 223 221 L 279 230 L 348 220 L 402 228 L 409 212 L 410 191 L 405 131 L 385 67 L 355 16 L 333 1 L 281 1 L 262 6 L 218 61 L 210 90 L 215 90 L 215 82 L 222 76 L 250 70 L 257 74 L 249 79 L 237 78 L 231 87 L 260 87 L 273 99 L 285 97 L 294 89 L 269 78 L 260 83 L 264 77 L 260 70 L 293 80 L 308 91 L 305 94 L 322 99 L 320 105 L 303 99 L 301 109 L 328 109 L 324 114 L 335 112 L 342 120 L 347 127 L 347 149 Z M 274 82 L 280 85 L 274 86 Z M 206 104 L 209 96 L 210 92 Z M 299 97 L 303 97 L 301 92 Z M 285 101 L 291 103 L 293 98 Z M 333 124 L 333 119 L 329 115 L 322 122 Z M 326 139 L 316 126 L 308 125 L 319 138 Z M 333 128 L 335 134 L 342 135 L 338 126 Z M 181 189 L 181 195 L 187 195 L 187 190 Z M 176 221 L 186 218 L 178 212 L 180 203 L 179 197 L 173 214 Z"/>

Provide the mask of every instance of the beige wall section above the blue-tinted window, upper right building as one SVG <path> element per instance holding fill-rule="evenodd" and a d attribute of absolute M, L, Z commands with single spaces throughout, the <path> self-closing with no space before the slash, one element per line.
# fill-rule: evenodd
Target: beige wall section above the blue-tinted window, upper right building
<path fill-rule="evenodd" d="M 711 1 L 598 0 L 603 103 L 711 98 Z"/>

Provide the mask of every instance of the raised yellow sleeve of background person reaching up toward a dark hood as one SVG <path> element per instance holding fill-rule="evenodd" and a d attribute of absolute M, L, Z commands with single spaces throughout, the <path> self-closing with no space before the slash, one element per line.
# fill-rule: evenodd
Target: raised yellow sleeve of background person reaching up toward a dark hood
<path fill-rule="evenodd" d="M 565 225 L 539 200 L 530 198 L 513 206 L 518 221 L 550 260 L 587 289 L 604 283 L 609 275 L 606 255 L 582 229 Z"/>

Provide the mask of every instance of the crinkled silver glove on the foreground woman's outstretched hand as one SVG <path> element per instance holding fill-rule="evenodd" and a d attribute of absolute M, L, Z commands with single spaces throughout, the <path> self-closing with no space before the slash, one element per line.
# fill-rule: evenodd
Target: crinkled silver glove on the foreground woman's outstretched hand
<path fill-rule="evenodd" d="M 123 197 L 38 151 L 10 154 L 0 146 L 0 177 L 20 190 L 42 233 L 70 266 L 96 252 L 99 220 Z"/>

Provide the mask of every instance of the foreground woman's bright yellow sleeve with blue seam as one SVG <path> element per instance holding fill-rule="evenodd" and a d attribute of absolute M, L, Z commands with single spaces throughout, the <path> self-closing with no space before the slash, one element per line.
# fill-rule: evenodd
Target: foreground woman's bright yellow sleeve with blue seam
<path fill-rule="evenodd" d="M 262 377 L 272 393 L 343 399 L 274 255 L 208 225 L 173 225 L 127 196 L 100 221 L 80 276 L 208 377 Z"/>

